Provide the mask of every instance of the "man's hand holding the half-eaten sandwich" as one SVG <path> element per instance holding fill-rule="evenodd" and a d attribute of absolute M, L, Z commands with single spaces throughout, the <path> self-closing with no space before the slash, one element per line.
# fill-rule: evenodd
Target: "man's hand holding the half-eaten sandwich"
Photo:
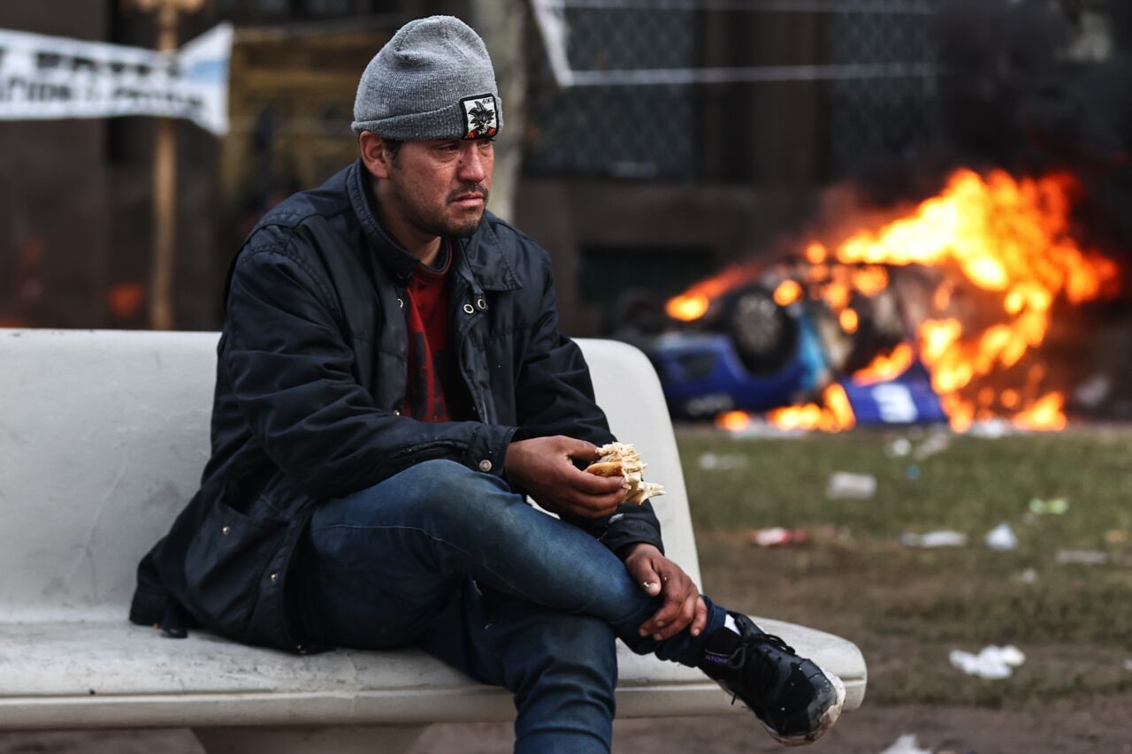
<path fill-rule="evenodd" d="M 558 515 L 600 519 L 625 502 L 620 477 L 578 471 L 571 459 L 597 461 L 598 446 L 571 437 L 535 437 L 512 443 L 504 468 L 507 477 L 534 502 Z"/>

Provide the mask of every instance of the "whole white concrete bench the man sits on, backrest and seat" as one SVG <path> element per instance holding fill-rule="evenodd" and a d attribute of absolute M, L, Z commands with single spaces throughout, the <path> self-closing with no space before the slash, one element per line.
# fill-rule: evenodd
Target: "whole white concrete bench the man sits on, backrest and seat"
<path fill-rule="evenodd" d="M 511 695 L 419 651 L 295 657 L 130 625 L 142 555 L 208 455 L 215 333 L 0 329 L 0 729 L 191 728 L 208 752 L 403 752 L 432 722 L 514 719 Z M 700 583 L 672 428 L 644 355 L 580 341 L 636 443 L 669 555 Z M 848 641 L 760 620 L 865 694 Z M 621 717 L 741 712 L 698 671 L 619 648 Z M 754 721 L 752 721 L 754 723 Z M 755 728 L 753 728 L 755 729 Z"/>

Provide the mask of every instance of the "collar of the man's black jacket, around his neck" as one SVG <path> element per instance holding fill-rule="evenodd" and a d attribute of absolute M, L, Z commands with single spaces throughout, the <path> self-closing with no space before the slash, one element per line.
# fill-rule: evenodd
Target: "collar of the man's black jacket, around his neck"
<path fill-rule="evenodd" d="M 375 199 L 369 183 L 369 171 L 359 158 L 351 165 L 350 172 L 346 174 L 350 204 L 375 256 L 402 284 L 408 283 L 420 260 L 402 248 L 381 228 L 381 223 L 377 220 Z M 499 248 L 499 238 L 491 223 L 495 215 L 488 212 L 484 212 L 483 215 L 480 226 L 470 238 L 453 239 L 462 251 L 460 257 L 466 263 L 468 272 L 465 274 L 469 276 L 472 289 L 479 292 L 480 290 L 511 291 L 522 288 L 518 276 Z M 464 265 L 456 265 L 461 273 L 464 273 L 463 267 Z"/>

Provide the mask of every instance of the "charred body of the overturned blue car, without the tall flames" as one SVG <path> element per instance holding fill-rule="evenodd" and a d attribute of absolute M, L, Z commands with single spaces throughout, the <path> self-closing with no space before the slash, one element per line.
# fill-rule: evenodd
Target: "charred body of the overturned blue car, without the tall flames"
<path fill-rule="evenodd" d="M 667 320 L 643 315 L 648 305 L 637 301 L 642 316 L 616 335 L 649 354 L 674 415 L 745 423 L 748 412 L 770 411 L 783 428 L 827 430 L 946 421 L 927 371 L 900 348 L 891 293 L 859 298 L 867 314 L 855 315 L 849 334 L 846 317 L 804 295 L 782 269 L 720 294 L 692 319 L 698 305 L 687 299 L 668 302 Z"/>

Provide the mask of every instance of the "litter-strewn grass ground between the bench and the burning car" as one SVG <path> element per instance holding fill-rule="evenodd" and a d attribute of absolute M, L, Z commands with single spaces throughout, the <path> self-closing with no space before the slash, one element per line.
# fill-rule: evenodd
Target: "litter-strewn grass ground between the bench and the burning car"
<path fill-rule="evenodd" d="M 867 704 L 997 708 L 1132 691 L 1132 431 L 732 439 L 684 430 L 678 442 L 705 591 L 855 641 L 869 666 Z M 874 475 L 875 495 L 829 499 L 838 471 Z M 1069 506 L 1034 514 L 1032 498 Z M 984 545 L 1003 522 L 1014 550 Z M 751 531 L 766 526 L 809 537 L 752 545 Z M 969 543 L 898 543 L 936 529 Z M 1063 564 L 1063 550 L 1107 563 Z M 1007 643 L 1027 656 L 1010 679 L 947 662 L 952 649 Z"/>

